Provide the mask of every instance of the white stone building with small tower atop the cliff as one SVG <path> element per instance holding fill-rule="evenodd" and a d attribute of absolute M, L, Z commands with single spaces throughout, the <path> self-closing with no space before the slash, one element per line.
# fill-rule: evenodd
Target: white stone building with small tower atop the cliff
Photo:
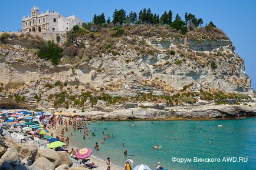
<path fill-rule="evenodd" d="M 39 14 L 39 8 L 31 9 L 31 16 L 22 17 L 22 32 L 69 31 L 74 25 L 81 26 L 83 21 L 72 15 L 64 17 L 58 12 L 47 10 Z"/>

